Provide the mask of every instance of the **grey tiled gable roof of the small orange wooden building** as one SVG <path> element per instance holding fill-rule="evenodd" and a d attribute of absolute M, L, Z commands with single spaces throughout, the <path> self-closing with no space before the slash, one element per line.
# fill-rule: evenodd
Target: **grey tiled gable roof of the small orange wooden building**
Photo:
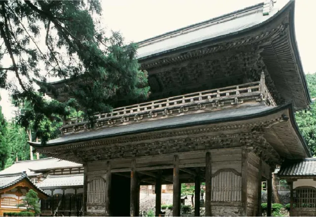
<path fill-rule="evenodd" d="M 32 183 L 32 181 L 28 178 L 25 172 L 15 173 L 15 174 L 6 174 L 0 175 L 0 190 L 11 187 L 14 184 L 17 184 L 20 181 L 26 180 L 36 191 L 44 194 L 45 196 L 49 196 L 49 194 L 45 193 L 42 189 L 37 187 Z"/>

